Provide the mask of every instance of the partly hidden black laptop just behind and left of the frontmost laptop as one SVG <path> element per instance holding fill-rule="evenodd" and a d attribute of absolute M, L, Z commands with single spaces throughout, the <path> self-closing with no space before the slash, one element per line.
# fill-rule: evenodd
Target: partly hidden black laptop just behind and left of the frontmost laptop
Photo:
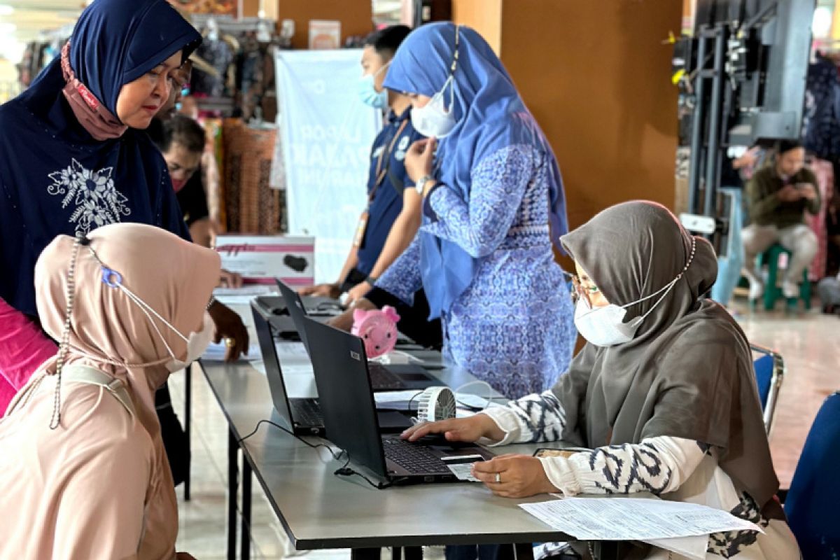
<path fill-rule="evenodd" d="M 260 351 L 265 364 L 265 376 L 268 378 L 271 400 L 274 401 L 277 414 L 296 435 L 323 437 L 323 416 L 318 399 L 289 398 L 280 359 L 277 356 L 274 333 L 271 332 L 270 322 L 257 305 L 255 302 L 251 303 L 251 312 L 254 314 L 257 339 L 260 341 Z"/>

